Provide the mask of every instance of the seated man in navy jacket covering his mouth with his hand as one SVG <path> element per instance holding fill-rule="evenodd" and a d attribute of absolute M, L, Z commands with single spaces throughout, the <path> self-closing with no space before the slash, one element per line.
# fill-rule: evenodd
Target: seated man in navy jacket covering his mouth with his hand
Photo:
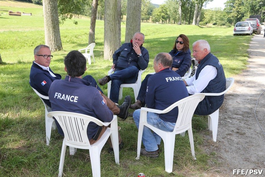
<path fill-rule="evenodd" d="M 149 63 L 148 50 L 143 47 L 145 35 L 141 32 L 134 34 L 132 42 L 124 43 L 112 55 L 115 69 L 110 76 L 99 79 L 100 85 L 105 85 L 111 80 L 110 99 L 114 103 L 119 101 L 120 85 L 122 83 L 135 83 L 138 72 L 147 68 Z"/>

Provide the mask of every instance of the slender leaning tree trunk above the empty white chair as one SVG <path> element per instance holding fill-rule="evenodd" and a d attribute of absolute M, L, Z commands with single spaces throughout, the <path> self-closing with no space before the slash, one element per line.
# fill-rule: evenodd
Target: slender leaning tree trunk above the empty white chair
<path fill-rule="evenodd" d="M 97 6 L 98 6 L 98 0 L 93 0 L 92 9 L 91 9 L 91 17 L 90 17 L 90 30 L 89 30 L 89 35 L 88 35 L 88 44 L 95 42 Z"/>

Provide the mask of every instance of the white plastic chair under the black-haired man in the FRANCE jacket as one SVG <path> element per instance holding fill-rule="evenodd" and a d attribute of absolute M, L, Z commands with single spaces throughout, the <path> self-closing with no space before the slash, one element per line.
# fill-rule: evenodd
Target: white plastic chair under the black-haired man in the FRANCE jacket
<path fill-rule="evenodd" d="M 54 117 L 64 132 L 58 177 L 62 176 L 66 146 L 69 146 L 69 148 L 75 148 L 75 151 L 76 148 L 88 149 L 91 160 L 92 175 L 100 177 L 100 152 L 107 139 L 111 137 L 115 162 L 119 164 L 118 122 L 116 115 L 113 116 L 111 122 L 102 122 L 99 119 L 85 114 L 64 111 L 49 112 L 48 117 Z M 92 145 L 90 145 L 87 137 L 87 126 L 89 122 L 95 122 L 99 126 L 108 126 L 111 124 L 110 128 L 107 128 L 102 137 L 100 137 L 100 139 Z"/>

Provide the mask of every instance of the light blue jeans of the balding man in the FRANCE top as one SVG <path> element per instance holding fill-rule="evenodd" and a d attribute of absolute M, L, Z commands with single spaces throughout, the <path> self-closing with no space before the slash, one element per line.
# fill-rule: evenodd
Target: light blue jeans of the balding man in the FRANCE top
<path fill-rule="evenodd" d="M 133 119 L 136 127 L 139 129 L 139 121 L 140 121 L 140 112 L 141 109 L 135 110 L 133 112 Z M 147 112 L 147 123 L 153 125 L 160 130 L 164 130 L 167 132 L 172 132 L 174 130 L 175 124 L 172 122 L 165 122 L 159 118 L 159 115 L 153 112 Z M 143 145 L 145 146 L 146 151 L 155 151 L 158 150 L 158 146 L 161 142 L 161 137 L 157 135 L 155 132 L 151 132 L 150 128 L 143 128 L 143 137 L 142 137 Z"/>

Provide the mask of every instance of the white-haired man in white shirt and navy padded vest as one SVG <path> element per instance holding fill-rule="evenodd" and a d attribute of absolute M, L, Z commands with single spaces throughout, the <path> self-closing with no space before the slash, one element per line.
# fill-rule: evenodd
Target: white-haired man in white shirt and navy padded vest
<path fill-rule="evenodd" d="M 188 93 L 220 93 L 226 89 L 226 78 L 219 60 L 211 54 L 210 45 L 206 40 L 198 40 L 192 45 L 193 57 L 199 65 L 195 74 L 185 79 Z M 194 114 L 209 115 L 219 109 L 224 95 L 206 96 L 201 101 Z"/>

